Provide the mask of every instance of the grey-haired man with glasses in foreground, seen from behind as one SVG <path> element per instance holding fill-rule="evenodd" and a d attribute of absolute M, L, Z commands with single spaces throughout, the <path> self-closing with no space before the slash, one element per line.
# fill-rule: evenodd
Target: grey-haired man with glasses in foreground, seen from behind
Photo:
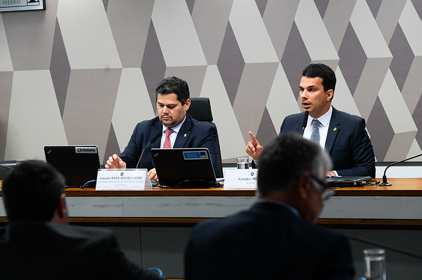
<path fill-rule="evenodd" d="M 352 280 L 345 236 L 314 223 L 326 189 L 328 155 L 286 133 L 260 157 L 259 199 L 249 210 L 196 225 L 185 249 L 186 280 Z"/>

